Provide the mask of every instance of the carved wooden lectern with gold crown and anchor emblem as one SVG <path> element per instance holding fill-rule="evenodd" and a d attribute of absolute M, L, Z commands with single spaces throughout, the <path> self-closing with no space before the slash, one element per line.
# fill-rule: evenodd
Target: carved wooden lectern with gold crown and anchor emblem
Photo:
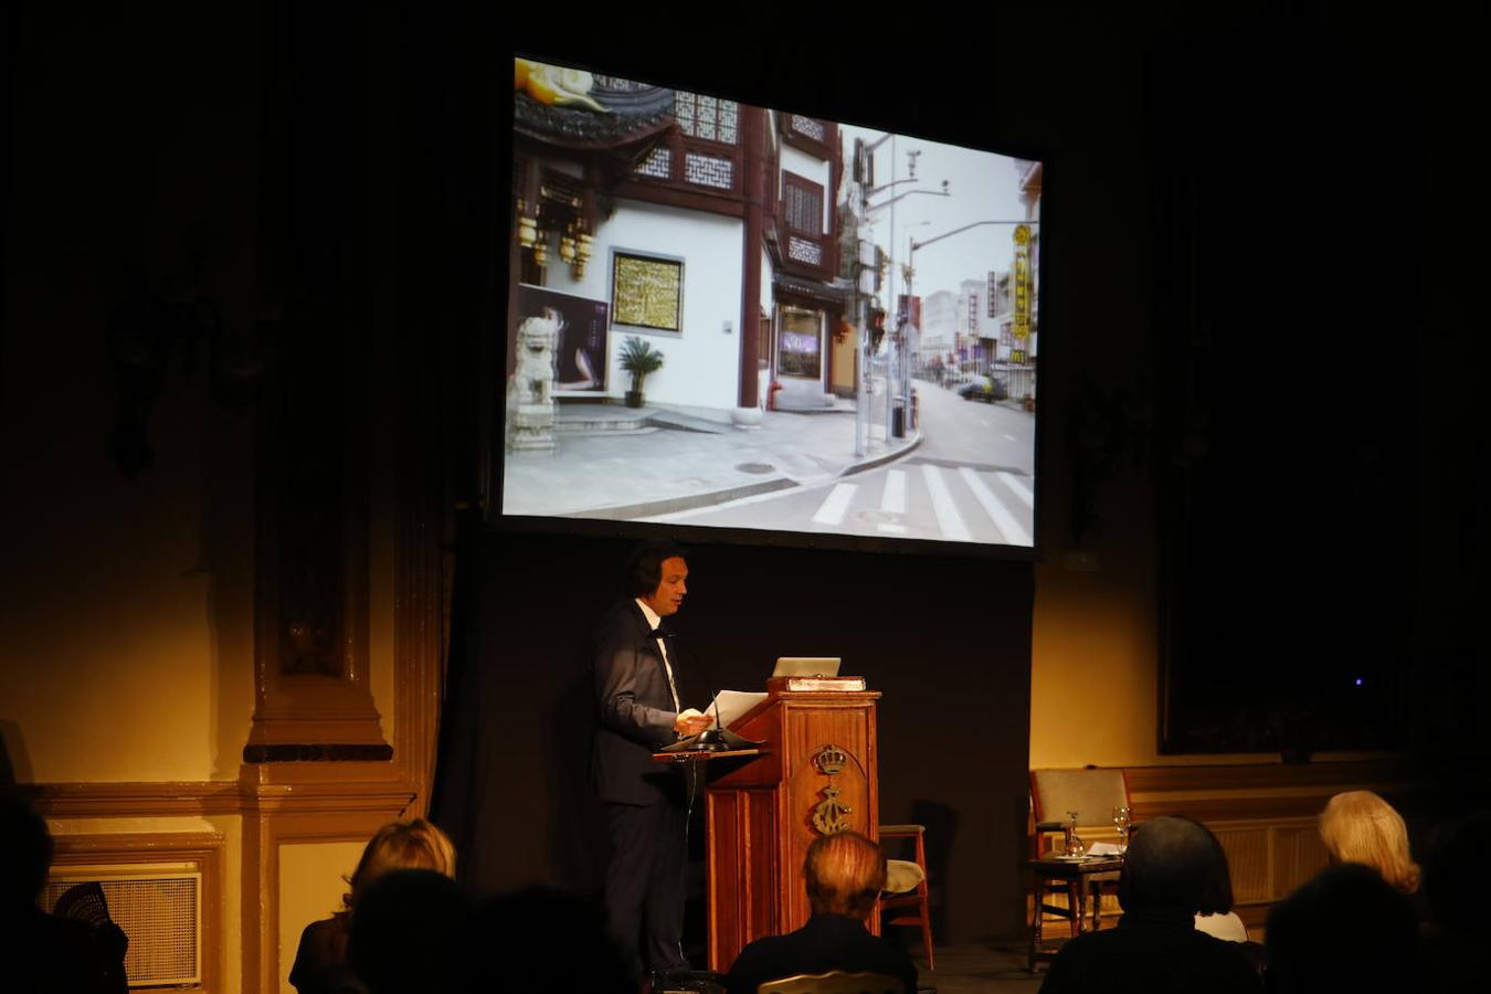
<path fill-rule="evenodd" d="M 802 858 L 820 835 L 880 833 L 875 700 L 862 677 L 780 677 L 734 732 L 759 756 L 707 765 L 710 969 L 807 924 Z M 878 918 L 878 917 L 877 917 Z M 869 922 L 878 934 L 878 921 Z"/>

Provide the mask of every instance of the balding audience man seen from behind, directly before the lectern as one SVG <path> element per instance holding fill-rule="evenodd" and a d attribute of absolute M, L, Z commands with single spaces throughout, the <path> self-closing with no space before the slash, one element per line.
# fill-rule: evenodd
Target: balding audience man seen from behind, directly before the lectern
<path fill-rule="evenodd" d="M 865 919 L 886 885 L 886 854 L 857 832 L 814 839 L 802 861 L 813 918 L 786 936 L 768 936 L 735 957 L 725 987 L 729 994 L 756 994 L 768 981 L 799 973 L 880 973 L 898 976 L 907 994 L 917 990 L 911 957 L 878 936 Z"/>

